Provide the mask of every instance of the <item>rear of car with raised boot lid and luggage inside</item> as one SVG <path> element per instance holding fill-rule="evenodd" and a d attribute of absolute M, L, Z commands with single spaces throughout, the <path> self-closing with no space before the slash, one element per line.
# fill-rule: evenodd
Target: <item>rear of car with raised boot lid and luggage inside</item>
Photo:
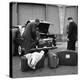
<path fill-rule="evenodd" d="M 34 22 L 34 20 L 30 20 L 30 22 Z M 52 48 L 56 48 L 56 37 L 55 34 L 49 33 L 49 28 L 52 23 L 40 20 L 40 24 L 38 26 L 38 44 L 36 45 L 36 49 L 30 50 L 48 50 Z"/>

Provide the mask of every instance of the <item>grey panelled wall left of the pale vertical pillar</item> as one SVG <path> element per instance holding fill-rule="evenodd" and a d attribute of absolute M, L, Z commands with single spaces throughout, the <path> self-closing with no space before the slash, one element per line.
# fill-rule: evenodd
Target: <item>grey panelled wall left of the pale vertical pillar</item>
<path fill-rule="evenodd" d="M 59 34 L 59 9 L 58 6 L 44 5 L 44 4 L 27 4 L 27 3 L 14 3 L 12 24 L 23 25 L 27 20 L 39 18 L 52 23 L 49 32 L 51 34 Z"/>

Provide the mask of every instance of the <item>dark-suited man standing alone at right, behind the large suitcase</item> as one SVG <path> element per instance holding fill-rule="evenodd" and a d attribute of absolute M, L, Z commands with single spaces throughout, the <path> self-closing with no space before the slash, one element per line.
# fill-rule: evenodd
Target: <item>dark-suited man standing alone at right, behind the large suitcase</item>
<path fill-rule="evenodd" d="M 72 17 L 68 18 L 69 25 L 68 25 L 68 44 L 67 49 L 68 50 L 75 50 L 75 43 L 77 41 L 77 24 L 73 21 Z"/>

